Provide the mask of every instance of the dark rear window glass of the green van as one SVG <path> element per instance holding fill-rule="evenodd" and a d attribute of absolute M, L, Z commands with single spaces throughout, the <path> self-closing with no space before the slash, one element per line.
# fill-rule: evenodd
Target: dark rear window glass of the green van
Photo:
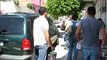
<path fill-rule="evenodd" d="M 23 34 L 23 18 L 2 18 L 0 17 L 0 34 Z"/>

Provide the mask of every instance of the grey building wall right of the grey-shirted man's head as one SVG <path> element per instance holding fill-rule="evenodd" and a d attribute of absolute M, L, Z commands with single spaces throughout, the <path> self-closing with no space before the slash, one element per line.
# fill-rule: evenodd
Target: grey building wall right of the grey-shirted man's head
<path fill-rule="evenodd" d="M 94 0 L 96 7 L 96 18 L 103 19 L 107 26 L 107 1 L 106 0 Z M 107 30 L 107 29 L 106 29 Z"/>

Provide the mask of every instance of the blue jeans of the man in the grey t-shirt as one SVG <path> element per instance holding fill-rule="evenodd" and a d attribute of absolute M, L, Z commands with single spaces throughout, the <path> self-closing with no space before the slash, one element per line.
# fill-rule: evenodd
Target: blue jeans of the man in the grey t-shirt
<path fill-rule="evenodd" d="M 83 48 L 83 60 L 98 60 L 98 50 L 97 48 Z"/>

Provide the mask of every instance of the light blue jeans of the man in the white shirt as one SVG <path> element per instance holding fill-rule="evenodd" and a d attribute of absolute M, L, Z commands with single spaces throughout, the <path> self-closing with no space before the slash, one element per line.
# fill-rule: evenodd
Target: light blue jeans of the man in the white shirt
<path fill-rule="evenodd" d="M 38 51 L 39 53 L 38 53 L 37 60 L 46 60 L 47 50 L 48 50 L 48 44 L 39 46 L 39 51 Z"/>

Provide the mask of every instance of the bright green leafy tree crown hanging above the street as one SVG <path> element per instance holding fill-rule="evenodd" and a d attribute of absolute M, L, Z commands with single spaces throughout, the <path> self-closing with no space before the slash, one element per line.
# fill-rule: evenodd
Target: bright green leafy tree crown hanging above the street
<path fill-rule="evenodd" d="M 82 6 L 81 0 L 47 0 L 48 12 L 52 16 L 78 14 Z"/>

